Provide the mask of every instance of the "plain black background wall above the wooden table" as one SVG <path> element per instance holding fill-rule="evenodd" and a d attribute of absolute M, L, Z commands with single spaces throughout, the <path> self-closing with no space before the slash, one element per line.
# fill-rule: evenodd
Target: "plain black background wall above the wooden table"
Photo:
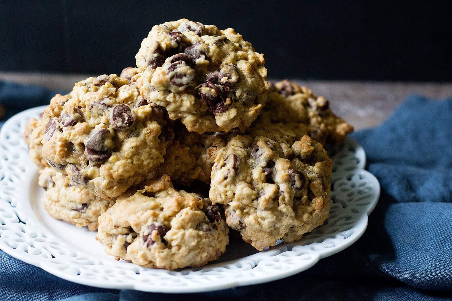
<path fill-rule="evenodd" d="M 451 13 L 395 1 L 0 2 L 0 71 L 110 74 L 135 64 L 154 24 L 234 28 L 269 78 L 452 80 Z"/>

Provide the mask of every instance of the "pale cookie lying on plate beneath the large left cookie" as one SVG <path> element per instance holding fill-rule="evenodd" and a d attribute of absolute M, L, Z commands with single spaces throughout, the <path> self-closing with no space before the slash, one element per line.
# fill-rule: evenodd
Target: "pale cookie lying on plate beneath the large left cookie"
<path fill-rule="evenodd" d="M 97 219 L 113 206 L 114 199 L 101 199 L 86 190 L 67 184 L 61 173 L 50 167 L 42 170 L 39 185 L 44 188 L 42 204 L 52 218 L 61 219 L 77 227 L 97 230 Z"/>

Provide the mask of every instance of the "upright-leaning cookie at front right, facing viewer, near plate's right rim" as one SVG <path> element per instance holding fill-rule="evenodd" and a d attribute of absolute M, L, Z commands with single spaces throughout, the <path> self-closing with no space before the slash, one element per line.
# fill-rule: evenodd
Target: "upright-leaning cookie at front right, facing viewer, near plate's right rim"
<path fill-rule="evenodd" d="M 233 134 L 217 152 L 210 198 L 226 223 L 258 250 L 292 242 L 330 210 L 332 162 L 322 145 L 282 124 Z"/>

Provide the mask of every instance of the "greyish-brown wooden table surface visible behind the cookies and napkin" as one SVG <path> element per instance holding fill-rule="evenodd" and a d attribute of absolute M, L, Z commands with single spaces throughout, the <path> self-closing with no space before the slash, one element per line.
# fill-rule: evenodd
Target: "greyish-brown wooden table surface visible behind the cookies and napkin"
<path fill-rule="evenodd" d="M 89 74 L 41 74 L 0 72 L 0 80 L 42 85 L 70 91 L 74 83 Z M 330 99 L 331 107 L 356 130 L 372 127 L 385 120 L 412 93 L 443 99 L 452 97 L 452 83 L 402 83 L 297 80 L 317 94 Z"/>

